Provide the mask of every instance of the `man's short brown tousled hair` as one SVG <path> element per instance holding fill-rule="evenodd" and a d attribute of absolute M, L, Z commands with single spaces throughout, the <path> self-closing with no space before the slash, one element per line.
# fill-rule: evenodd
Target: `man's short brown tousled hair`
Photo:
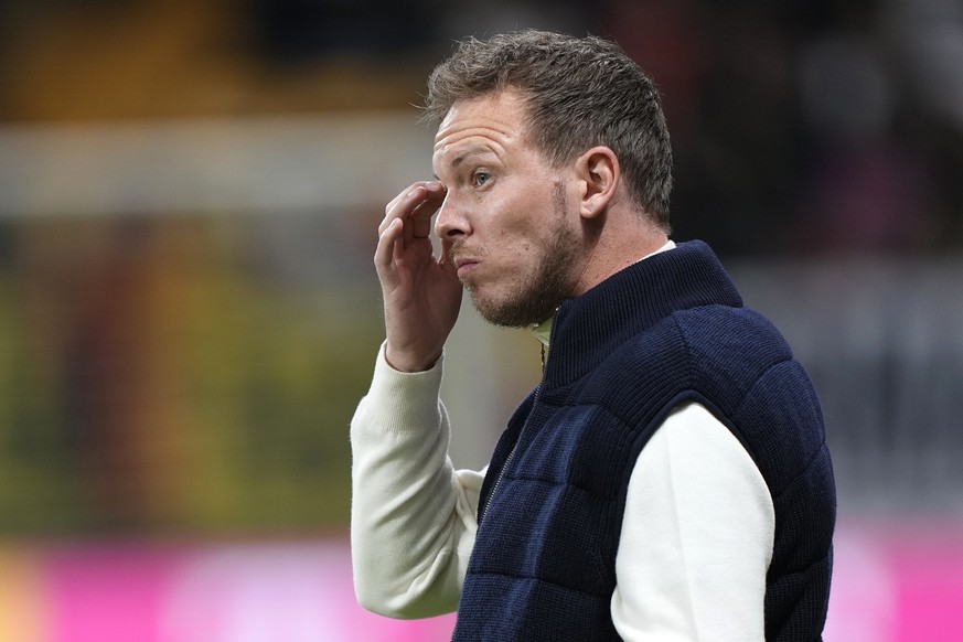
<path fill-rule="evenodd" d="M 558 167 L 601 145 L 619 158 L 629 195 L 668 232 L 672 147 L 655 84 L 614 42 L 524 30 L 469 38 L 431 72 L 425 119 L 459 100 L 521 92 L 533 145 Z"/>

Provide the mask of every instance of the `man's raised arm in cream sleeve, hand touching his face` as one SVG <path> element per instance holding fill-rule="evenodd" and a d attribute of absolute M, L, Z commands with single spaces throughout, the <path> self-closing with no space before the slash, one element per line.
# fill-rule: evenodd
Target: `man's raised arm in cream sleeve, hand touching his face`
<path fill-rule="evenodd" d="M 418 182 L 385 207 L 374 264 L 386 340 L 351 426 L 355 592 L 365 608 L 394 617 L 454 610 L 474 543 L 481 481 L 452 470 L 438 399 L 462 295 L 429 238 L 445 194 L 440 182 Z"/>

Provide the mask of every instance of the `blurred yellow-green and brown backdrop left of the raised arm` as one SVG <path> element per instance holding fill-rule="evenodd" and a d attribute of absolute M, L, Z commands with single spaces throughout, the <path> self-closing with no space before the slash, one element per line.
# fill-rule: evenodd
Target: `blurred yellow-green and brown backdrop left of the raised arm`
<path fill-rule="evenodd" d="M 237 265 L 231 239 L 243 239 L 229 227 L 162 217 L 22 228 L 20 281 L 0 297 L 20 311 L 11 334 L 23 340 L 7 376 L 29 386 L 0 427 L 13 454 L 0 507 L 21 527 L 345 522 L 345 426 L 377 318 L 360 319 L 334 290 L 269 287 Z M 18 434 L 24 421 L 31 436 Z"/>

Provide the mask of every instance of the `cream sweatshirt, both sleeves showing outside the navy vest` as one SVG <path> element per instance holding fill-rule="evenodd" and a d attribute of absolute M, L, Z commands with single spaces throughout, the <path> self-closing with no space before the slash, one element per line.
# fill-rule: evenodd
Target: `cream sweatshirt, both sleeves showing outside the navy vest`
<path fill-rule="evenodd" d="M 394 618 L 451 612 L 474 544 L 484 470 L 456 470 L 443 356 L 400 373 L 378 354 L 351 422 L 354 586 Z M 704 406 L 675 408 L 629 482 L 612 621 L 627 641 L 764 639 L 775 516 L 759 469 Z"/>

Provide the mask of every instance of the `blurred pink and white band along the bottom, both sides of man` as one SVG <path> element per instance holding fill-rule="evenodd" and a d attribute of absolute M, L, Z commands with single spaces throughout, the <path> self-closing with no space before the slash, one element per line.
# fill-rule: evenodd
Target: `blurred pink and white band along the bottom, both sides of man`
<path fill-rule="evenodd" d="M 827 642 L 963 640 L 963 523 L 843 523 Z M 453 616 L 357 606 L 345 539 L 75 544 L 0 553 L 15 642 L 432 642 Z"/>

